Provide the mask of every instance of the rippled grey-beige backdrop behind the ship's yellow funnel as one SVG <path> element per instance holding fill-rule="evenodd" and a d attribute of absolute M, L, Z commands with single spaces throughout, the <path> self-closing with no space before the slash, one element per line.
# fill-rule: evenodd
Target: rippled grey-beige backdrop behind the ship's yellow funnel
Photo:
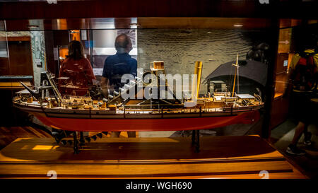
<path fill-rule="evenodd" d="M 243 30 L 137 30 L 138 66 L 149 69 L 150 62 L 163 60 L 167 74 L 193 74 L 194 62 L 202 61 L 204 81 L 220 64 L 234 61 L 237 53 L 245 59 L 263 35 Z M 201 85 L 201 93 L 205 92 L 206 86 Z"/>

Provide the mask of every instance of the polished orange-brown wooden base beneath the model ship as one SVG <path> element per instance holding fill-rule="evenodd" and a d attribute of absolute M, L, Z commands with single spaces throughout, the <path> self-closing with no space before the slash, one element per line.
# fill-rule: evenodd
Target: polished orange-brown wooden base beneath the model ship
<path fill-rule="evenodd" d="M 0 152 L 0 177 L 49 178 L 305 178 L 259 136 L 102 138 L 73 154 L 54 139 L 19 138 Z M 50 176 L 50 175 L 49 175 Z"/>

